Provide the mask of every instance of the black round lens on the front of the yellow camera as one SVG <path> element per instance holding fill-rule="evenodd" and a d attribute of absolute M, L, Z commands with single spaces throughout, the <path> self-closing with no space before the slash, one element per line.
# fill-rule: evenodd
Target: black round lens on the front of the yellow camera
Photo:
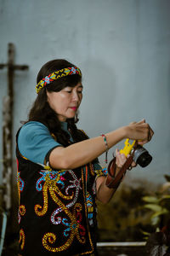
<path fill-rule="evenodd" d="M 150 164 L 152 156 L 145 148 L 138 145 L 138 147 L 134 151 L 133 160 L 135 161 L 135 163 L 139 164 L 139 166 L 145 167 Z"/>

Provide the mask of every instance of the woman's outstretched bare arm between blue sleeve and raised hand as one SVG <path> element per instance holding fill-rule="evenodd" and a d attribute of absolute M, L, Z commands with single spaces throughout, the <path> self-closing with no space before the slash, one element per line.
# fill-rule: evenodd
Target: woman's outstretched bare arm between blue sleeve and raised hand
<path fill-rule="evenodd" d="M 105 134 L 108 148 L 126 137 L 126 127 Z M 66 148 L 54 148 L 49 156 L 50 165 L 56 169 L 74 169 L 99 157 L 106 150 L 104 138 L 94 137 Z"/>

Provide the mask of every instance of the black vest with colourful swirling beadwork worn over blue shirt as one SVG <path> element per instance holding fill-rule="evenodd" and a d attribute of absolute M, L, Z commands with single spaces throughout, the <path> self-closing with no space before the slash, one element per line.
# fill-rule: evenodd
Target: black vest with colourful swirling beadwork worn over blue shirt
<path fill-rule="evenodd" d="M 20 255 L 96 255 L 93 164 L 51 170 L 27 160 L 18 146 L 16 157 Z"/>

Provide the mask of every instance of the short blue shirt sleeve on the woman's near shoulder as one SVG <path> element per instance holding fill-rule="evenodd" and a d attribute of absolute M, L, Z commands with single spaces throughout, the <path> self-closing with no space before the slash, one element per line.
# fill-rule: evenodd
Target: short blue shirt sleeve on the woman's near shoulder
<path fill-rule="evenodd" d="M 43 165 L 48 152 L 59 146 L 62 145 L 54 140 L 48 128 L 40 122 L 28 122 L 20 129 L 18 137 L 20 154 L 34 163 Z"/>

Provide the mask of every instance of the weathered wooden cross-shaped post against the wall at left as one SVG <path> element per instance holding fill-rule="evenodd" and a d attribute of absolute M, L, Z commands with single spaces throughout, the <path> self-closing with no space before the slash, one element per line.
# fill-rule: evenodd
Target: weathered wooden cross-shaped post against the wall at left
<path fill-rule="evenodd" d="M 26 70 L 27 65 L 14 64 L 14 44 L 8 44 L 8 63 L 0 68 L 8 68 L 8 94 L 3 99 L 3 208 L 11 206 L 13 173 L 13 105 L 14 105 L 14 70 Z"/>

